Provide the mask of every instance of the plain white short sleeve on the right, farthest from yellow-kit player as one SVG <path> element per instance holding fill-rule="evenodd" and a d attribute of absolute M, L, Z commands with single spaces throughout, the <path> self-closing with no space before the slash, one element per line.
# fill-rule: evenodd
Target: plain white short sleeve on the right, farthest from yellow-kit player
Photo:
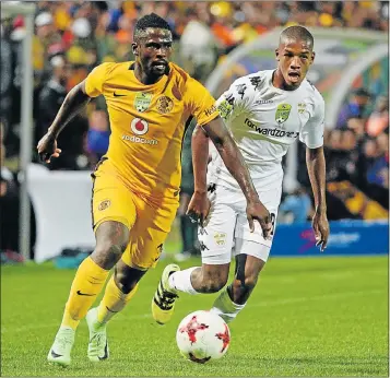
<path fill-rule="evenodd" d="M 309 118 L 299 133 L 300 142 L 309 149 L 323 145 L 324 102 L 321 95 L 316 101 L 314 115 Z"/>

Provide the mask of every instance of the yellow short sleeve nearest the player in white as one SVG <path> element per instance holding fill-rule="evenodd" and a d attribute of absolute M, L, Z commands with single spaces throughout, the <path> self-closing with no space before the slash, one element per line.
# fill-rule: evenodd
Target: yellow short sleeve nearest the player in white
<path fill-rule="evenodd" d="M 191 78 L 187 91 L 191 114 L 197 118 L 199 126 L 203 126 L 218 116 L 215 98 L 201 83 Z"/>

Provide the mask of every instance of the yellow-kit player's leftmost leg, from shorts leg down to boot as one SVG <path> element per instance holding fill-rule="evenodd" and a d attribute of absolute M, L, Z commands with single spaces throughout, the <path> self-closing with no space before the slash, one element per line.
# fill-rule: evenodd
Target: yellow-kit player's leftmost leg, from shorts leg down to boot
<path fill-rule="evenodd" d="M 70 364 L 75 329 L 101 293 L 109 270 L 126 250 L 129 229 L 135 221 L 135 205 L 129 191 L 115 175 L 103 173 L 103 167 L 95 172 L 92 197 L 95 250 L 78 269 L 61 327 L 48 354 L 49 362 L 60 365 Z"/>

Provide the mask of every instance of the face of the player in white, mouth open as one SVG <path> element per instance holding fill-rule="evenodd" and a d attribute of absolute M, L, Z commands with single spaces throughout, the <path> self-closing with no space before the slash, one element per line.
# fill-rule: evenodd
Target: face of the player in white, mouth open
<path fill-rule="evenodd" d="M 304 40 L 289 39 L 280 44 L 276 60 L 287 87 L 298 87 L 315 60 L 312 47 Z"/>

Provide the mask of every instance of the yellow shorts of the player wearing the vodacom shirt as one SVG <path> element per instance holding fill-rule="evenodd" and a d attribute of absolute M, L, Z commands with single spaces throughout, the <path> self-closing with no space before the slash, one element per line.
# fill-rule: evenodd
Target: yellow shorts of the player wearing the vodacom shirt
<path fill-rule="evenodd" d="M 178 196 L 151 201 L 128 189 L 105 162 L 92 177 L 94 231 L 106 221 L 125 224 L 130 229 L 130 239 L 122 255 L 123 262 L 142 269 L 155 267 L 176 216 Z"/>

